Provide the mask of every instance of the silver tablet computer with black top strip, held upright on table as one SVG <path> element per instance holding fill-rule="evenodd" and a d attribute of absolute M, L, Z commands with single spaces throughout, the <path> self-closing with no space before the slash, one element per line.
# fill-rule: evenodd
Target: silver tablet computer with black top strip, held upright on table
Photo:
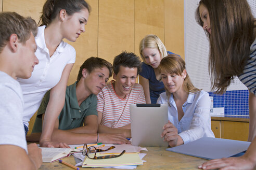
<path fill-rule="evenodd" d="M 167 104 L 131 104 L 130 115 L 133 146 L 168 147 L 161 138 L 168 123 Z"/>

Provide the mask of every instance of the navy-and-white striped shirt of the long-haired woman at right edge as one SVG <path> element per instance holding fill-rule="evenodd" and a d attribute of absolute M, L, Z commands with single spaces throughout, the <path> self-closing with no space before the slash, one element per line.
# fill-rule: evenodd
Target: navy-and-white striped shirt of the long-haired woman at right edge
<path fill-rule="evenodd" d="M 250 47 L 250 57 L 244 68 L 244 73 L 238 76 L 251 93 L 256 95 L 256 39 Z"/>

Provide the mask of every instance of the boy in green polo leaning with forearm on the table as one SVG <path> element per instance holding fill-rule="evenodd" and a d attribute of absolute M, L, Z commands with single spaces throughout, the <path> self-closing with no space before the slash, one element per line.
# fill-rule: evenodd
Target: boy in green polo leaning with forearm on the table
<path fill-rule="evenodd" d="M 65 105 L 55 123 L 52 141 L 68 145 L 84 143 L 125 144 L 130 143 L 121 134 L 98 134 L 96 95 L 112 76 L 112 65 L 104 59 L 91 57 L 80 67 L 77 81 L 66 89 Z M 37 111 L 33 132 L 29 140 L 42 132 L 42 119 L 49 102 L 48 91 Z M 83 125 L 84 124 L 84 125 Z"/>

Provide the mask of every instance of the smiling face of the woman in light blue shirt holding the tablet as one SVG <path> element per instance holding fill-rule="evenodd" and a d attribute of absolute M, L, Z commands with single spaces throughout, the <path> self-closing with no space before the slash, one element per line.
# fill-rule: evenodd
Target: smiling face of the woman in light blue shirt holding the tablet
<path fill-rule="evenodd" d="M 176 93 L 178 91 L 183 90 L 183 82 L 186 78 L 187 72 L 184 69 L 182 75 L 177 74 L 170 74 L 167 72 L 162 72 L 162 81 L 164 84 L 164 87 L 170 92 L 170 93 Z"/>

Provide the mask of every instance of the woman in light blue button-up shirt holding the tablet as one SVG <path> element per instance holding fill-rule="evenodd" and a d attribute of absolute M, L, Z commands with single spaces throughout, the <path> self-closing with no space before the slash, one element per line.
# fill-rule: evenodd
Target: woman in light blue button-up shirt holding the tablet
<path fill-rule="evenodd" d="M 169 54 L 159 65 L 166 92 L 157 103 L 168 104 L 169 122 L 163 126 L 165 141 L 174 147 L 201 137 L 214 137 L 211 130 L 209 94 L 195 88 L 187 74 L 184 60 Z"/>

